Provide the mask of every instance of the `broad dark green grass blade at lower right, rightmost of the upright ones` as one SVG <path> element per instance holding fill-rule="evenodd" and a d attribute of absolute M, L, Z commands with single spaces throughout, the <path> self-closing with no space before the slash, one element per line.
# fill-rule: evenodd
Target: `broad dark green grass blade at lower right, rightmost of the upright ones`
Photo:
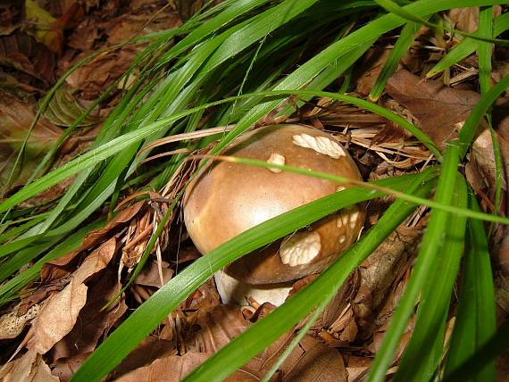
<path fill-rule="evenodd" d="M 471 209 L 479 211 L 475 196 L 470 197 Z M 482 223 L 468 221 L 468 245 L 463 264 L 462 286 L 456 312 L 455 328 L 449 345 L 445 377 L 476 353 L 496 332 L 495 292 L 488 252 L 488 239 Z M 505 341 L 506 338 L 505 338 Z M 495 360 L 475 370 L 472 381 L 495 380 Z"/>

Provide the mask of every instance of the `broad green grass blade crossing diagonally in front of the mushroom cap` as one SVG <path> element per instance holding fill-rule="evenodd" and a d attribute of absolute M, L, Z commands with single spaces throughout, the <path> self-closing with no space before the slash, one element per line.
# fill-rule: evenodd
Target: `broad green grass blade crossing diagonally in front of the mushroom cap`
<path fill-rule="evenodd" d="M 433 177 L 434 170 L 399 179 L 383 179 L 376 184 L 405 189 L 413 180 L 425 181 Z M 238 237 L 220 245 L 215 250 L 196 260 L 176 277 L 152 295 L 109 336 L 96 352 L 74 375 L 74 381 L 96 381 L 103 378 L 143 340 L 177 305 L 196 290 L 213 272 L 220 270 L 243 254 L 294 232 L 313 221 L 335 212 L 352 203 L 376 197 L 378 193 L 351 187 L 334 195 L 325 196 L 267 220 L 255 228 L 248 229 Z M 378 194 L 380 195 L 380 194 Z"/>

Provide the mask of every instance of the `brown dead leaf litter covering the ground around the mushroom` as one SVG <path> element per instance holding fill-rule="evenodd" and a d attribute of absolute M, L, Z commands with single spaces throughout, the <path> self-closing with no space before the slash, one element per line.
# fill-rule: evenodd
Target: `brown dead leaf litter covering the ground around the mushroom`
<path fill-rule="evenodd" d="M 54 83 L 54 79 L 79 59 L 99 49 L 110 49 L 66 79 L 65 94 L 60 97 L 61 101 L 55 98 L 52 102 L 56 104 L 50 104 L 52 107 L 45 112 L 46 118 L 38 121 L 28 142 L 31 156 L 27 157 L 23 170 L 17 174 L 16 182 L 7 185 L 5 192 L 9 192 L 10 187 L 21 186 L 28 179 L 30 169 L 34 169 L 40 154 L 46 153 L 47 146 L 63 134 L 63 129 L 90 101 L 101 95 L 129 68 L 136 54 L 144 48 L 143 44 L 138 44 L 113 49 L 114 44 L 140 33 L 174 28 L 181 22 L 179 16 L 191 12 L 191 8 L 169 6 L 153 17 L 162 7 L 160 2 L 150 0 L 132 2 L 121 13 L 111 4 L 99 6 L 99 2 L 90 0 L 71 6 L 69 2 L 54 0 L 46 8 L 43 2 L 27 1 L 27 4 L 33 18 L 44 19 L 54 28 L 23 31 L 17 27 L 23 21 L 22 13 L 12 5 L 4 8 L 9 12 L 13 28 L 5 29 L 0 37 L 0 120 L 3 121 L 0 134 L 5 141 L 0 143 L 0 155 L 4 155 L 2 162 L 13 163 L 16 145 L 20 144 L 23 133 L 29 129 L 38 110 L 37 99 Z M 198 8 L 196 4 L 195 10 Z M 455 10 L 447 13 L 446 20 L 457 29 L 472 31 L 477 29 L 476 12 L 472 8 Z M 59 25 L 68 29 L 68 38 L 62 38 L 62 29 L 56 28 Z M 146 25 L 148 28 L 144 28 Z M 388 86 L 380 99 L 380 104 L 415 123 L 441 147 L 446 140 L 455 137 L 473 105 L 480 99 L 469 73 L 477 69 L 474 55 L 463 62 L 471 68 L 457 66 L 452 69 L 455 76 L 463 76 L 461 80 L 456 77 L 456 81 L 451 81 L 446 74 L 441 78 L 423 79 L 430 65 L 459 38 L 454 37 L 447 42 L 423 27 L 410 52 L 402 58 L 399 70 L 388 79 Z M 27 41 L 29 44 L 21 44 Z M 387 60 L 391 42 L 377 43 L 379 46 L 373 46 L 357 64 L 359 71 L 352 88 L 358 96 L 369 94 Z M 438 49 L 430 51 L 430 45 Z M 504 65 L 498 68 L 505 71 Z M 137 76 L 137 72 L 133 71 L 132 75 Z M 493 73 L 493 78 L 500 77 L 500 72 Z M 88 144 L 83 142 L 95 137 L 101 127 L 101 119 L 118 103 L 119 95 L 120 92 L 99 104 L 88 122 L 68 138 L 74 141 L 67 142 L 67 153 L 61 150 L 55 163 L 63 164 L 86 149 Z M 493 110 L 495 137 L 503 158 L 509 157 L 506 104 L 507 99 L 503 98 Z M 13 111 L 16 111 L 16 118 Z M 267 116 L 260 125 L 273 122 L 272 117 Z M 425 168 L 433 160 L 424 146 L 394 124 L 378 115 L 330 99 L 321 98 L 305 104 L 299 112 L 281 118 L 332 131 L 353 155 L 364 179 L 387 178 L 415 171 Z M 15 144 L 13 137 L 17 139 Z M 6 143 L 7 138 L 12 142 Z M 465 167 L 471 187 L 480 196 L 482 208 L 488 212 L 493 212 L 496 181 L 492 143 L 488 126 L 484 124 L 478 131 Z M 504 162 L 505 176 L 509 170 L 507 163 Z M 178 214 L 173 214 L 144 269 L 125 293 L 107 305 L 118 296 L 140 262 L 148 240 L 154 234 L 154 222 L 160 221 L 161 214 L 168 209 L 169 202 L 177 195 L 191 170 L 191 166 L 183 166 L 179 176 L 172 179 L 161 194 L 125 190 L 125 199 L 104 228 L 88 233 L 75 251 L 47 262 L 41 270 L 40 279 L 31 286 L 31 295 L 23 297 L 21 303 L 6 305 L 0 316 L 0 341 L 10 341 L 18 350 L 14 354 L 3 354 L 0 378 L 5 381 L 69 380 L 108 333 L 129 316 L 130 310 L 136 309 L 188 262 L 199 256 L 185 229 L 182 229 Z M 503 197 L 499 211 L 502 214 L 507 212 L 505 179 L 502 181 Z M 46 198 L 35 198 L 30 205 L 40 206 L 54 200 L 69 184 L 63 183 L 60 190 Z M 144 195 L 148 197 L 140 201 L 139 198 Z M 381 198 L 369 203 L 366 228 L 376 223 L 388 201 L 389 198 Z M 426 220 L 427 211 L 418 210 L 363 262 L 272 380 L 353 382 L 366 376 L 412 272 Z M 509 311 L 507 237 L 505 227 L 495 227 L 491 237 L 499 270 L 496 298 L 501 316 Z M 298 280 L 292 293 L 305 287 L 313 278 Z M 120 381 L 178 381 L 274 308 L 271 304 L 254 300 L 251 300 L 251 306 L 243 308 L 222 304 L 213 279 L 210 279 L 138 345 L 109 378 Z M 454 316 L 449 319 L 453 322 Z M 302 325 L 303 322 L 227 380 L 263 378 Z M 395 365 L 412 330 L 413 320 L 400 341 Z"/>

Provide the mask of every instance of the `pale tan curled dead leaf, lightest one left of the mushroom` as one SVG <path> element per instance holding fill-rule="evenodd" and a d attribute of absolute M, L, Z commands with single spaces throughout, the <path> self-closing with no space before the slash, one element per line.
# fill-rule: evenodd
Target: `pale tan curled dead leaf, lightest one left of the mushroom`
<path fill-rule="evenodd" d="M 72 274 L 69 285 L 46 300 L 32 327 L 29 349 L 44 354 L 71 332 L 79 311 L 87 302 L 88 286 L 84 284 L 85 281 L 104 270 L 113 258 L 115 249 L 116 241 L 113 237 L 88 255 Z"/>

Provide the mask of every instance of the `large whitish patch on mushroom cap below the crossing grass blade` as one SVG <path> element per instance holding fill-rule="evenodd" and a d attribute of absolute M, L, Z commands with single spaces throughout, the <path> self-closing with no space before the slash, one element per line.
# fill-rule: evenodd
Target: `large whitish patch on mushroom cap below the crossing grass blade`
<path fill-rule="evenodd" d="M 286 237 L 281 243 L 281 262 L 290 267 L 307 264 L 320 253 L 320 250 L 321 241 L 318 232 L 298 232 Z"/>

